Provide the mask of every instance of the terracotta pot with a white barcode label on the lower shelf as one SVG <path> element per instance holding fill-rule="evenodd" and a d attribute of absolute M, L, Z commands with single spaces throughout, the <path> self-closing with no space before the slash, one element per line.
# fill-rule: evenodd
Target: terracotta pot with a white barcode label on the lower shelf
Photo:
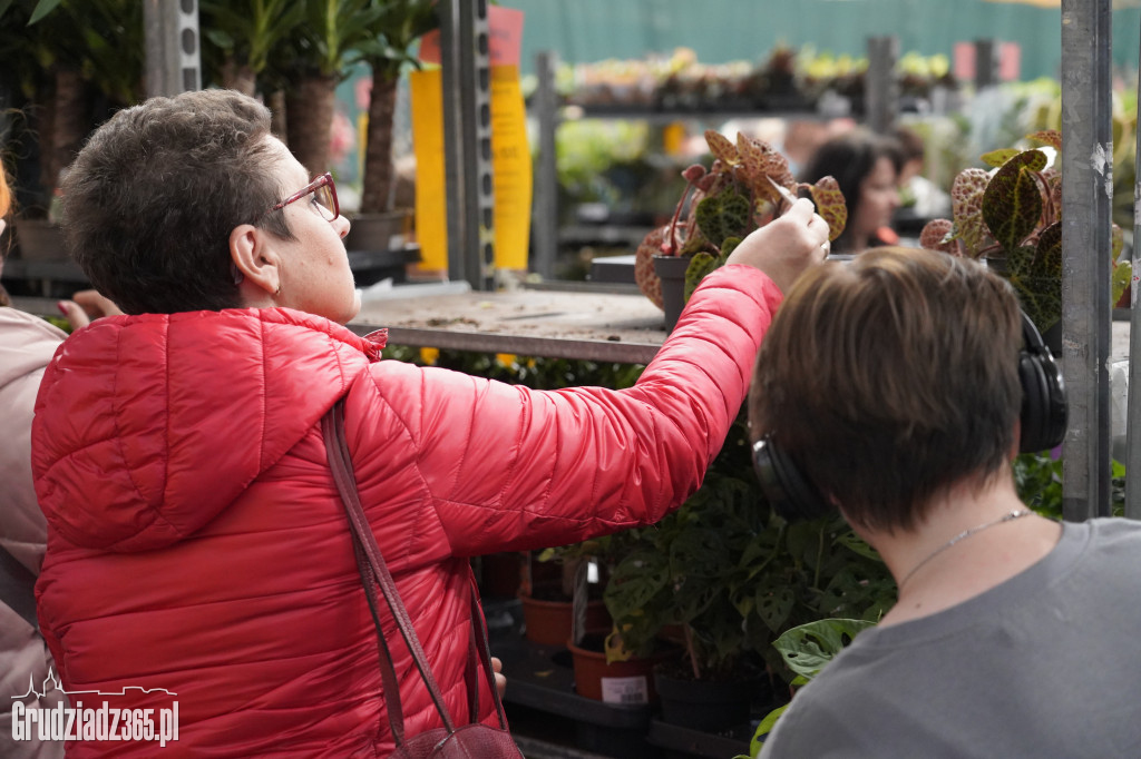
<path fill-rule="evenodd" d="M 663 644 L 659 651 L 645 659 L 630 659 L 607 663 L 602 644 L 606 631 L 591 631 L 581 645 L 567 640 L 574 664 L 574 685 L 578 695 L 596 701 L 621 704 L 657 703 L 654 687 L 654 667 L 677 659 L 681 650 Z"/>

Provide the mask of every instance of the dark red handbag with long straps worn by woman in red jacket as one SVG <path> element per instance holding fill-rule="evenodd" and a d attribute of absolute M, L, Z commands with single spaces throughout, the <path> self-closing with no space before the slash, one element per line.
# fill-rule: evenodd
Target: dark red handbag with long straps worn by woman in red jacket
<path fill-rule="evenodd" d="M 469 721 L 466 725 L 456 726 L 444 704 L 439 686 L 428 666 L 428 658 L 424 655 L 416 637 L 412 619 L 408 617 L 400 595 L 396 590 L 393 576 L 388 572 L 385 557 L 381 556 L 377 539 L 372 534 L 372 529 L 361 507 L 361 497 L 357 493 L 356 478 L 353 474 L 353 460 L 349 457 L 348 443 L 345 440 L 345 407 L 343 401 L 338 401 L 324 418 L 321 421 L 322 434 L 325 439 L 325 450 L 329 454 L 329 465 L 333 472 L 333 480 L 345 504 L 348 514 L 349 528 L 353 533 L 353 547 L 356 553 L 357 569 L 361 572 L 361 581 L 364 583 L 365 596 L 369 599 L 369 609 L 372 612 L 372 620 L 377 627 L 378 645 L 380 648 L 381 680 L 385 689 L 385 707 L 388 712 L 388 724 L 393 731 L 393 740 L 396 742 L 396 750 L 393 757 L 407 757 L 410 759 L 422 759 L 428 757 L 440 757 L 442 759 L 523 759 L 523 752 L 511 740 L 511 734 L 507 727 L 507 715 L 503 712 L 503 703 L 500 701 L 499 691 L 495 688 L 495 675 L 492 670 L 491 650 L 487 646 L 487 623 L 484 621 L 483 612 L 479 609 L 479 598 L 472 585 L 471 591 L 471 637 L 468 651 L 468 666 L 466 682 L 468 686 L 468 711 Z M 444 723 L 444 727 L 437 727 L 420 735 L 407 736 L 404 734 L 404 710 L 400 707 L 400 689 L 396 679 L 396 670 L 393 667 L 393 656 L 389 652 L 388 642 L 380 626 L 380 607 L 377 589 L 388 606 L 389 613 L 396 620 L 400 631 L 400 637 L 412 654 L 412 660 L 420 672 L 420 677 L 431 695 L 436 711 Z M 499 713 L 500 726 L 492 727 L 477 721 L 479 719 L 479 687 L 478 669 L 483 663 L 487 684 L 491 686 L 492 699 L 495 702 L 495 711 Z"/>

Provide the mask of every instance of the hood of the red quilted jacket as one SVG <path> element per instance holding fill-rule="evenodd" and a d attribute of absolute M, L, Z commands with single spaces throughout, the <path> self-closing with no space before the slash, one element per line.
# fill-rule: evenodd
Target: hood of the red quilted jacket
<path fill-rule="evenodd" d="M 56 353 L 35 402 L 32 468 L 48 523 L 118 552 L 185 538 L 380 358 L 375 337 L 289 309 L 92 323 Z"/>

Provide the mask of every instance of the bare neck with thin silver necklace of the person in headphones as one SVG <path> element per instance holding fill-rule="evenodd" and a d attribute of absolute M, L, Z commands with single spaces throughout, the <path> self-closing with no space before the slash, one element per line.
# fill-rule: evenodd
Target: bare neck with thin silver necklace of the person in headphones
<path fill-rule="evenodd" d="M 981 488 L 954 485 L 912 530 L 865 531 L 899 586 L 899 602 L 883 621 L 925 617 L 962 603 L 1050 553 L 1060 525 L 1033 513 L 1021 515 L 1028 511 L 1009 473 L 1000 473 Z"/>

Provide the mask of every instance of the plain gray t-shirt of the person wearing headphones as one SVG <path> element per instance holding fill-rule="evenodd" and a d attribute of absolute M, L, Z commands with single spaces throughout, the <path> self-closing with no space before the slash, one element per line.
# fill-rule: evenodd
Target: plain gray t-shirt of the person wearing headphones
<path fill-rule="evenodd" d="M 1002 585 L 864 630 L 760 756 L 1141 757 L 1141 522 L 1065 523 Z"/>

